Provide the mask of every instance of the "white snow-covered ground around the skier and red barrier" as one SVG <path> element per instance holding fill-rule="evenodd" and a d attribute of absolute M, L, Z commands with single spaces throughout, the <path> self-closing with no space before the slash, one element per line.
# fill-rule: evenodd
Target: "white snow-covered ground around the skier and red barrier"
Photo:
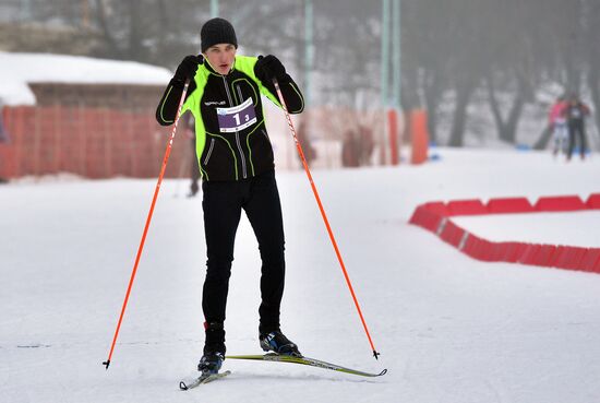
<path fill-rule="evenodd" d="M 369 371 L 387 368 L 377 379 L 228 360 L 230 377 L 179 391 L 180 378 L 193 371 L 202 353 L 205 250 L 201 201 L 183 198 L 188 183 L 178 188 L 175 180 L 163 186 L 119 343 L 105 370 L 101 361 L 155 180 L 0 187 L 0 400 L 600 401 L 600 275 L 479 262 L 407 224 L 417 204 L 433 200 L 586 198 L 600 191 L 600 157 L 566 164 L 514 151 L 440 154 L 442 161 L 418 167 L 313 173 L 382 353 L 379 361 L 304 174 L 278 174 L 288 268 L 283 329 L 307 356 Z M 469 218 L 478 228 L 466 226 L 515 240 L 598 247 L 599 216 L 600 211 L 544 214 L 511 225 L 502 217 L 487 223 L 479 217 Z M 244 218 L 228 303 L 230 354 L 260 353 L 259 266 Z"/>

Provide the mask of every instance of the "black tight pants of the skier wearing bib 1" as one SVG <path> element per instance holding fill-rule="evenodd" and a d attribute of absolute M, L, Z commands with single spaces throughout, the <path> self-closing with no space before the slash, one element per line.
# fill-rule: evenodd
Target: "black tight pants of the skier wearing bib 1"
<path fill-rule="evenodd" d="M 207 322 L 224 322 L 233 242 L 242 209 L 252 225 L 261 251 L 261 325 L 279 325 L 284 294 L 284 223 L 275 173 L 241 181 L 203 181 L 204 232 L 207 270 L 202 309 Z"/>

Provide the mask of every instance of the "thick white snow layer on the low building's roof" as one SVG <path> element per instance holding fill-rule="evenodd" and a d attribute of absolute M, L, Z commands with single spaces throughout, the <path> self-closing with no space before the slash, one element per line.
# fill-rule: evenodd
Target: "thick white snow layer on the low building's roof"
<path fill-rule="evenodd" d="M 166 85 L 172 73 L 136 61 L 0 51 L 0 104 L 35 105 L 27 83 Z"/>

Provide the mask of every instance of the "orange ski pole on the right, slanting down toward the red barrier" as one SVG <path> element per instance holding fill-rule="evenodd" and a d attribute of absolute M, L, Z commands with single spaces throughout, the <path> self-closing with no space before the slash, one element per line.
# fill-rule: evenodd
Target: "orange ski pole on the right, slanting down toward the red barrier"
<path fill-rule="evenodd" d="M 284 107 L 284 112 L 286 114 L 286 119 L 288 121 L 289 130 L 291 131 L 291 134 L 293 135 L 293 141 L 296 142 L 296 149 L 298 150 L 298 154 L 300 154 L 300 159 L 302 161 L 302 166 L 304 167 L 304 171 L 307 173 L 307 176 L 309 177 L 309 181 L 311 182 L 312 192 L 314 193 L 314 198 L 316 199 L 316 204 L 319 204 L 319 210 L 321 211 L 321 215 L 323 216 L 323 222 L 325 223 L 325 227 L 327 228 L 327 233 L 329 234 L 329 239 L 332 240 L 332 245 L 335 249 L 335 254 L 337 256 L 337 260 L 339 261 L 339 266 L 341 268 L 341 271 L 344 272 L 344 277 L 346 278 L 346 283 L 348 284 L 348 288 L 350 289 L 350 294 L 352 295 L 352 299 L 355 300 L 355 305 L 357 307 L 358 315 L 360 317 L 360 320 L 362 322 L 362 327 L 364 328 L 364 332 L 367 333 L 367 339 L 369 339 L 369 343 L 371 344 L 371 349 L 373 351 L 373 356 L 375 359 L 379 358 L 380 353 L 375 349 L 375 345 L 373 344 L 373 340 L 371 339 L 371 334 L 369 333 L 369 328 L 367 327 L 367 322 L 364 321 L 364 317 L 362 316 L 362 310 L 360 309 L 360 305 L 358 303 L 357 295 L 355 293 L 355 288 L 352 287 L 352 283 L 350 282 L 350 276 L 348 275 L 348 271 L 346 270 L 346 265 L 344 264 L 344 259 L 341 259 L 341 253 L 339 252 L 339 248 L 337 247 L 337 242 L 334 237 L 334 233 L 332 230 L 332 226 L 329 225 L 329 221 L 327 220 L 327 215 L 325 214 L 325 209 L 323 208 L 323 203 L 321 202 L 321 198 L 319 197 L 319 192 L 316 191 L 316 186 L 314 185 L 314 181 L 312 180 L 311 170 L 309 169 L 309 165 L 307 164 L 307 158 L 304 158 L 304 153 L 302 152 L 302 146 L 300 145 L 300 142 L 298 141 L 298 135 L 296 135 L 296 129 L 293 128 L 293 123 L 291 121 L 291 118 L 288 112 L 288 108 L 286 106 L 286 100 L 284 99 L 284 95 L 281 94 L 281 88 L 279 87 L 279 83 L 277 82 L 277 79 L 273 79 L 273 83 L 275 84 L 275 91 L 277 91 L 277 96 L 279 97 L 279 100 L 281 103 L 281 106 Z"/>

